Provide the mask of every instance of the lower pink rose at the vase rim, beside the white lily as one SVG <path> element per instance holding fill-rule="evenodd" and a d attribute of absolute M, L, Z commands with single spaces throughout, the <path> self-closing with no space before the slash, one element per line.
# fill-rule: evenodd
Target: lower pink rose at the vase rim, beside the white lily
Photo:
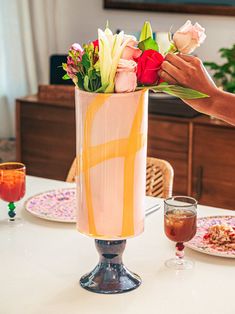
<path fill-rule="evenodd" d="M 115 76 L 115 92 L 133 92 L 137 86 L 137 63 L 133 60 L 120 59 Z"/>

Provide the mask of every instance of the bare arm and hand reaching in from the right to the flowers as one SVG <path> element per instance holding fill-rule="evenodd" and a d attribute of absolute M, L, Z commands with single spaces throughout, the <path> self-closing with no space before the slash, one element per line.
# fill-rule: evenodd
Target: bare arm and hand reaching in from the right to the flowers
<path fill-rule="evenodd" d="M 218 89 L 200 59 L 182 54 L 168 54 L 162 64 L 160 76 L 169 84 L 179 84 L 209 95 L 209 98 L 183 101 L 201 113 L 235 125 L 235 94 Z"/>

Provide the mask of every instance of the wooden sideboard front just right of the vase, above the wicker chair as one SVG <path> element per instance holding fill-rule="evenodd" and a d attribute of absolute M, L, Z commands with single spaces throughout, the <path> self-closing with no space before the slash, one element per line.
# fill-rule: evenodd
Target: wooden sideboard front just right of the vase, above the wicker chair
<path fill-rule="evenodd" d="M 174 194 L 188 193 L 188 123 L 149 116 L 148 156 L 165 159 L 174 169 Z"/>

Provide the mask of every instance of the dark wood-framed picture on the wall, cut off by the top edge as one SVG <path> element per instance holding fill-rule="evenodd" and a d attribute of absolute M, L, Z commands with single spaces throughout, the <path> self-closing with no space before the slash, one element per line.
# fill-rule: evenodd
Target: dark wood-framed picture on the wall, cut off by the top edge
<path fill-rule="evenodd" d="M 235 15 L 235 0 L 104 0 L 104 8 Z"/>

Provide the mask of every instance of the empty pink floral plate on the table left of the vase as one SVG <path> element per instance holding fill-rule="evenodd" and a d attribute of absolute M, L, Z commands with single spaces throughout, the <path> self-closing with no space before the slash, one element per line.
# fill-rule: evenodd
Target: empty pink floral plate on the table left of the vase
<path fill-rule="evenodd" d="M 39 218 L 75 223 L 75 195 L 74 188 L 47 191 L 29 198 L 25 209 Z"/>

